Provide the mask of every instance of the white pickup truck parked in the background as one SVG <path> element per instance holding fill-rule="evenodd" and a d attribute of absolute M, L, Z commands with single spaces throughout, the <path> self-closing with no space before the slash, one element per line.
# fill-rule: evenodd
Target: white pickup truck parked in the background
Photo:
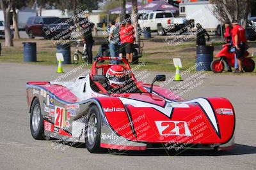
<path fill-rule="evenodd" d="M 182 34 L 186 22 L 186 18 L 176 17 L 170 11 L 152 11 L 146 13 L 139 21 L 141 29 L 150 28 L 150 31 L 161 36 L 166 35 L 166 32 L 176 32 L 180 30 Z M 186 31 L 185 31 L 186 32 Z"/>

